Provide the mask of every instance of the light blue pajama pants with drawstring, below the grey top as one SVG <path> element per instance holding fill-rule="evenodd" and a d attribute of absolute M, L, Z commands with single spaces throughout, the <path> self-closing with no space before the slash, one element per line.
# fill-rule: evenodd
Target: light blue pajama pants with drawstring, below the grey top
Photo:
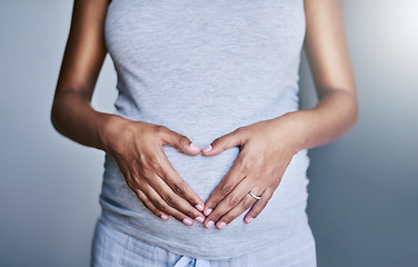
<path fill-rule="evenodd" d="M 178 255 L 120 233 L 100 219 L 91 249 L 93 267 L 316 267 L 316 246 L 307 225 L 290 239 L 267 249 L 222 260 Z"/>

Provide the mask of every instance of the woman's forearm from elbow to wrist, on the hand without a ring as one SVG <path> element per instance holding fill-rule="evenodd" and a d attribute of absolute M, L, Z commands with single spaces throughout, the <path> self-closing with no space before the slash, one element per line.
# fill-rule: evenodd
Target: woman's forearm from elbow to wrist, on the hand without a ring
<path fill-rule="evenodd" d="M 51 121 L 63 136 L 81 145 L 107 150 L 103 131 L 119 116 L 96 111 L 88 98 L 76 90 L 56 96 Z"/>

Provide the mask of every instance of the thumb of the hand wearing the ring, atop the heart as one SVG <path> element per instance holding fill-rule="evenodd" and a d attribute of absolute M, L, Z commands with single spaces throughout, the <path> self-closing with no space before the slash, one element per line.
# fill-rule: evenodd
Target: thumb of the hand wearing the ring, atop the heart
<path fill-rule="evenodd" d="M 201 154 L 203 156 L 216 156 L 229 148 L 243 145 L 246 140 L 246 129 L 240 127 L 225 136 L 215 139 L 209 146 L 201 150 Z"/>

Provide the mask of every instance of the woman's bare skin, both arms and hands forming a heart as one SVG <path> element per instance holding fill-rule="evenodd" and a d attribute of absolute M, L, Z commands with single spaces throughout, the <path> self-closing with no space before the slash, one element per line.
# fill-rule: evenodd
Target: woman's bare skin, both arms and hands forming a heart
<path fill-rule="evenodd" d="M 71 29 L 51 108 L 63 136 L 112 156 L 127 185 L 156 216 L 195 220 L 222 229 L 242 212 L 248 224 L 266 207 L 293 155 L 331 142 L 358 117 L 357 89 L 344 30 L 341 1 L 305 1 L 306 55 L 318 103 L 310 110 L 242 126 L 205 149 L 165 126 L 99 112 L 91 97 L 107 55 L 103 26 L 109 0 L 74 0 Z M 209 199 L 203 200 L 173 169 L 163 146 L 196 156 L 219 155 L 239 146 L 240 154 Z M 252 190 L 260 200 L 248 192 Z"/>

